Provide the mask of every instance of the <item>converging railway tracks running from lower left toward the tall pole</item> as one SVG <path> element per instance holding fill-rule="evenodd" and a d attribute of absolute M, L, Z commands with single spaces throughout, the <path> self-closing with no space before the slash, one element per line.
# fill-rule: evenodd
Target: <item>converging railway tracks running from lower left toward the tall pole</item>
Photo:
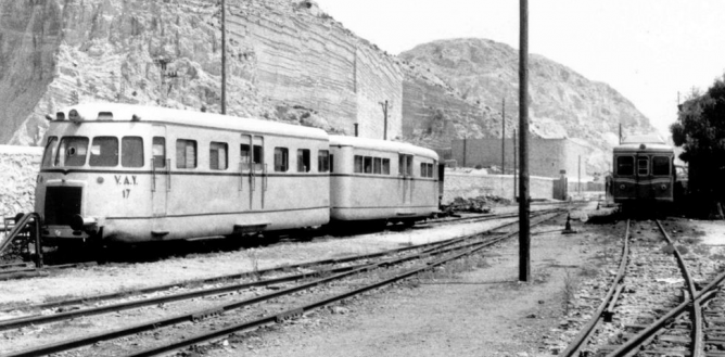
<path fill-rule="evenodd" d="M 537 220 L 540 224 L 560 213 L 542 213 Z M 495 230 L 500 231 L 504 226 L 509 225 L 503 225 Z M 513 230 L 501 234 L 476 234 L 475 237 L 410 246 L 373 255 L 335 259 L 328 263 L 336 264 L 336 267 L 317 271 L 282 275 L 259 280 L 255 277 L 253 281 L 224 283 L 218 286 L 194 290 L 193 292 L 179 292 L 166 296 L 118 303 L 127 304 L 125 305 L 127 307 L 122 307 L 118 304 L 115 304 L 116 306 L 102 305 L 97 311 L 79 308 L 78 310 L 81 310 L 79 313 L 76 313 L 78 310 L 66 310 L 65 313 L 50 315 L 51 317 L 43 317 L 40 314 L 17 318 L 4 321 L 0 329 L 10 331 L 12 335 L 13 331 L 22 333 L 23 329 L 26 329 L 26 331 L 38 329 L 41 323 L 61 322 L 49 326 L 48 329 L 55 330 L 69 324 L 72 332 L 67 335 L 54 331 L 52 339 L 49 340 L 54 342 L 37 347 L 28 347 L 27 342 L 17 341 L 17 345 L 25 347 L 25 349 L 4 350 L 3 356 L 35 356 L 74 348 L 78 348 L 74 352 L 74 355 L 149 356 L 177 350 L 190 345 L 213 341 L 236 331 L 295 318 L 310 309 L 391 284 L 454 259 L 469 256 L 516 233 L 517 231 Z M 352 264 L 353 262 L 356 262 L 356 264 Z M 321 263 L 317 262 L 316 264 Z M 285 267 L 285 269 L 300 268 L 302 267 Z M 241 277 L 236 279 L 239 278 Z M 226 279 L 234 278 L 227 277 Z M 262 291 L 260 286 L 267 288 Z M 166 289 L 168 288 L 166 286 Z M 186 296 L 181 297 L 185 294 Z M 201 305 L 204 306 L 200 308 L 199 303 L 189 304 L 189 298 L 196 298 L 198 301 L 201 298 L 204 301 Z M 169 304 L 173 301 L 177 303 Z M 175 306 L 171 307 L 171 305 Z M 251 309 L 252 305 L 260 306 Z M 58 307 L 59 305 L 54 306 Z M 71 305 L 63 306 L 67 308 Z M 28 307 L 28 310 L 37 310 L 38 308 L 49 308 L 49 306 Z M 127 308 L 130 309 L 129 313 L 120 315 Z M 106 314 L 107 316 L 110 311 L 114 311 L 113 315 L 118 315 L 118 318 L 114 316 L 93 319 L 93 322 L 78 319 L 80 316 L 96 314 Z M 149 319 L 155 316 L 158 318 Z M 123 320 L 123 322 L 119 320 Z M 239 323 L 240 320 L 246 322 Z M 88 334 L 87 329 L 74 327 L 78 323 L 100 324 L 106 327 L 106 329 L 101 328 L 102 332 Z M 179 342 L 178 339 L 168 337 L 175 335 L 175 333 L 169 332 L 169 329 L 173 331 L 179 324 L 185 323 L 185 331 L 188 328 L 189 333 L 183 336 L 182 341 Z M 119 324 L 126 327 L 120 329 L 107 328 Z M 142 339 L 147 334 L 151 336 L 151 339 L 148 339 L 151 341 Z M 17 337 L 17 340 L 26 341 L 21 335 Z M 143 342 L 133 342 L 129 345 L 127 343 L 128 339 L 133 341 L 140 339 Z M 174 341 L 167 341 L 169 339 Z M 158 341 L 164 342 L 160 343 Z M 37 340 L 33 342 L 37 342 Z M 101 348 L 102 352 L 99 352 L 98 348 Z"/>

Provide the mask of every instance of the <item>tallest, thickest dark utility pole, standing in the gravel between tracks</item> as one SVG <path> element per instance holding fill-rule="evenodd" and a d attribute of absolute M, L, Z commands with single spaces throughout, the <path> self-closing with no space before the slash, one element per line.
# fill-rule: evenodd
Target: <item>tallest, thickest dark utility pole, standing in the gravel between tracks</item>
<path fill-rule="evenodd" d="M 529 221 L 529 0 L 519 0 L 519 135 L 521 178 L 519 181 L 519 281 L 531 280 L 531 232 Z"/>

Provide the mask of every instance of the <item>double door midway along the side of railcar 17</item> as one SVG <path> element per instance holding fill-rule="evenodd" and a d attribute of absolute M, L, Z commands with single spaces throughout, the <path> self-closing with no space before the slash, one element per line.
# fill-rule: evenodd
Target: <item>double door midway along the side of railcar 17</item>
<path fill-rule="evenodd" d="M 240 191 L 249 202 L 245 206 L 250 211 L 262 211 L 265 207 L 265 191 L 268 183 L 267 165 L 264 161 L 264 137 L 242 135 L 241 156 Z"/>

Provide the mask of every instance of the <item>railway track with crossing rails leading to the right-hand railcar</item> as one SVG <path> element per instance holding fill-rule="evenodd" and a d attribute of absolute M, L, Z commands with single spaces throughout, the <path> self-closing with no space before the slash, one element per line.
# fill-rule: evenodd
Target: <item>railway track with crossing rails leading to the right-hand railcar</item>
<path fill-rule="evenodd" d="M 725 322 L 725 301 L 715 299 L 718 303 L 703 311 L 703 303 L 716 296 L 725 273 L 715 276 L 697 266 L 694 276 L 690 268 L 697 262 L 683 257 L 659 220 L 634 227 L 627 220 L 626 226 L 619 270 L 608 293 L 561 355 L 725 356 L 709 353 L 725 349 L 725 329 L 717 327 Z M 710 283 L 698 289 L 696 281 L 703 280 Z"/>

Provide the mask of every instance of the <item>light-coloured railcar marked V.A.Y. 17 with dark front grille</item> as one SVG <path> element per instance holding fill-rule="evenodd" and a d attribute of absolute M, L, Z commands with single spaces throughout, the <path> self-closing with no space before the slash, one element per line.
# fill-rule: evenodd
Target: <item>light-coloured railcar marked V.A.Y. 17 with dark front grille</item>
<path fill-rule="evenodd" d="M 323 130 L 106 103 L 49 119 L 36 189 L 43 239 L 141 242 L 329 221 Z"/>

